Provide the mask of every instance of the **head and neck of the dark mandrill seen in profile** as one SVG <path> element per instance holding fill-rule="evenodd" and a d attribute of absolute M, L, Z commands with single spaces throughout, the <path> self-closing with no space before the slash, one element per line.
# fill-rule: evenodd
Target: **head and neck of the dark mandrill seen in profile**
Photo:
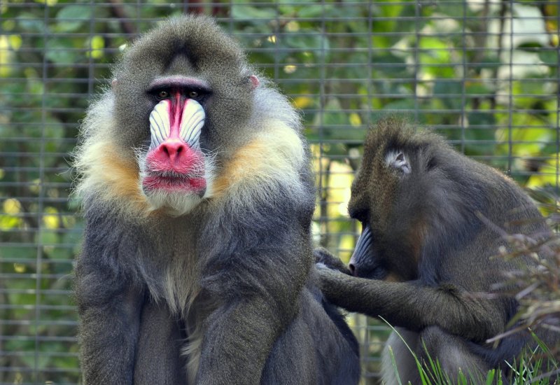
<path fill-rule="evenodd" d="M 485 212 L 480 175 L 495 171 L 457 153 L 444 139 L 398 118 L 381 120 L 364 144 L 349 214 L 362 223 L 350 260 L 363 278 L 416 279 L 426 253 L 461 244 Z M 503 178 L 498 178 L 501 180 Z"/>

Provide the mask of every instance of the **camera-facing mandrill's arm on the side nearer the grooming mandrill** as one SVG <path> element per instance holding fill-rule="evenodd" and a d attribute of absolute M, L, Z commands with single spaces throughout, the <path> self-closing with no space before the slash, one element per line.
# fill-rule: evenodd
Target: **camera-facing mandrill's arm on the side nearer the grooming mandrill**
<path fill-rule="evenodd" d="M 313 262 L 307 223 L 288 205 L 256 209 L 260 214 L 241 221 L 246 225 L 221 216 L 205 232 L 202 249 L 212 254 L 201 296 L 216 310 L 205 321 L 196 384 L 260 384 L 274 343 L 299 309 Z"/>

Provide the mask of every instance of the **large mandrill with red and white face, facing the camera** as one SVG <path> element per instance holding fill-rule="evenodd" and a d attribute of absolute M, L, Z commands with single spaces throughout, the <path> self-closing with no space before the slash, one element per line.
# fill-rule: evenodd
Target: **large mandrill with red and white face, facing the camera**
<path fill-rule="evenodd" d="M 213 20 L 141 37 L 76 151 L 85 384 L 356 384 L 316 288 L 300 120 Z"/>

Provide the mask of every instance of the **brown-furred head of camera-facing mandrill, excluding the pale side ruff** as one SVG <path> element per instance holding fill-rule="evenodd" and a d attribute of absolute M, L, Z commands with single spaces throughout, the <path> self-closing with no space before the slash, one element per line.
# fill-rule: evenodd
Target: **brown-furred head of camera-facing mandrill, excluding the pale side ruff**
<path fill-rule="evenodd" d="M 136 188 L 127 207 L 181 216 L 214 199 L 223 165 L 255 132 L 247 126 L 258 84 L 239 45 L 211 20 L 171 19 L 127 48 L 106 104 L 119 127 L 108 126 L 106 152 L 122 158 Z"/>

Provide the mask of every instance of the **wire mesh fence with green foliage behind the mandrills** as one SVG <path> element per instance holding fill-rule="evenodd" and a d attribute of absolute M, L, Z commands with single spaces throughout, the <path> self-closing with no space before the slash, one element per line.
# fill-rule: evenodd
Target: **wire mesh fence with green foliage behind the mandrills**
<path fill-rule="evenodd" d="M 0 1 L 0 384 L 80 382 L 71 281 L 80 250 L 69 160 L 88 102 L 127 42 L 204 13 L 302 111 L 313 230 L 348 260 L 346 214 L 367 127 L 388 113 L 441 132 L 521 185 L 559 185 L 560 0 Z M 363 383 L 388 332 L 349 318 Z"/>

